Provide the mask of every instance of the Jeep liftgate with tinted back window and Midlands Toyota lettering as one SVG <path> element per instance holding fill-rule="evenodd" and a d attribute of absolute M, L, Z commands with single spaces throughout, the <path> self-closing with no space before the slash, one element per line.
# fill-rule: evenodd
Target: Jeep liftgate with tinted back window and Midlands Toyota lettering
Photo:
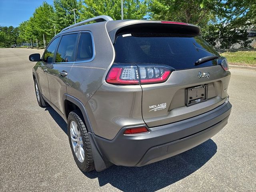
<path fill-rule="evenodd" d="M 230 72 L 224 71 L 217 59 L 194 65 L 200 58 L 219 56 L 200 36 L 149 29 L 117 36 L 114 47 L 116 63 L 138 66 L 142 116 L 149 127 L 197 116 L 226 100 Z M 166 82 L 143 84 L 143 78 L 149 81 L 159 73 L 158 66 L 172 71 Z"/>

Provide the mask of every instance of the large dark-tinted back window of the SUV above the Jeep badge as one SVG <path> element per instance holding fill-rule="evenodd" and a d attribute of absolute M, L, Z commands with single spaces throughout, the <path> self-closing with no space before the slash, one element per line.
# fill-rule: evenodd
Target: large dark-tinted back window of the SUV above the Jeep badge
<path fill-rule="evenodd" d="M 163 64 L 176 70 L 217 65 L 216 60 L 194 66 L 205 56 L 219 55 L 200 36 L 166 33 L 131 33 L 117 36 L 116 63 Z"/>

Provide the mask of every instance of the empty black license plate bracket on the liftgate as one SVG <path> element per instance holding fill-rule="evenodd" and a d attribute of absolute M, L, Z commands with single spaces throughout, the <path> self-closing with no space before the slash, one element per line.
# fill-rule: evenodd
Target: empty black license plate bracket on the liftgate
<path fill-rule="evenodd" d="M 191 106 L 207 100 L 208 84 L 186 89 L 186 106 Z"/>

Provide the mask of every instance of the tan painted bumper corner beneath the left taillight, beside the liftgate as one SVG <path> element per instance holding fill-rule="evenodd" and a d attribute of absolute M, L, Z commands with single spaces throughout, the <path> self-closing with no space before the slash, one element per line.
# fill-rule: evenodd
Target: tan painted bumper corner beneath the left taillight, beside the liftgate
<path fill-rule="evenodd" d="M 86 104 L 94 133 L 114 139 L 124 126 L 144 124 L 140 85 L 118 86 L 104 82 Z"/>

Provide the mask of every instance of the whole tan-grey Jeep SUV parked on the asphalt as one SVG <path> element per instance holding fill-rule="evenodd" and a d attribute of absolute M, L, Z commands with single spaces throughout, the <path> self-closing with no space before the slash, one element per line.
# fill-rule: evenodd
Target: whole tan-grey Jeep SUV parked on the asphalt
<path fill-rule="evenodd" d="M 228 122 L 228 62 L 195 25 L 98 16 L 64 28 L 29 59 L 39 106 L 67 122 L 86 172 L 169 158 Z"/>

